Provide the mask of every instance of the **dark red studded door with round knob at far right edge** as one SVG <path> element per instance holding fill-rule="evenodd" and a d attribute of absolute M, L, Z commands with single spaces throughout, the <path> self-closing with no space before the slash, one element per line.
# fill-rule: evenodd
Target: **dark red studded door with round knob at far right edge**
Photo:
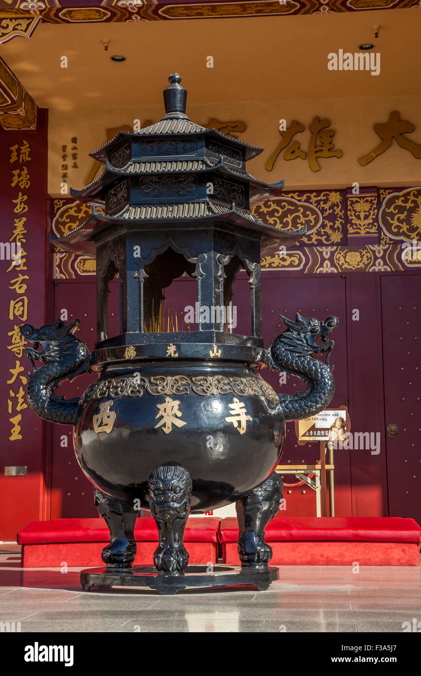
<path fill-rule="evenodd" d="M 421 277 L 383 275 L 381 291 L 389 516 L 421 523 Z"/>

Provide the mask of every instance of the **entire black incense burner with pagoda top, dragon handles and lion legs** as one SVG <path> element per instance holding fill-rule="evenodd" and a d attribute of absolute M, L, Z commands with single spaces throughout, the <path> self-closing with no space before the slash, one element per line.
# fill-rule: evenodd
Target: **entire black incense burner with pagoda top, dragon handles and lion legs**
<path fill-rule="evenodd" d="M 316 414 L 330 402 L 328 335 L 338 320 L 282 317 L 286 330 L 264 348 L 261 256 L 293 243 L 305 228 L 283 231 L 253 215 L 253 204 L 282 195 L 283 182 L 268 185 L 250 176 L 246 162 L 262 149 L 191 122 L 180 76 L 169 80 L 164 118 L 138 132 L 120 132 L 92 153 L 105 164 L 103 174 L 72 191 L 93 207 L 92 215 L 53 241 L 96 257 L 97 343 L 89 354 L 74 335 L 78 321 L 21 327 L 34 343 L 26 349 L 32 362 L 28 401 L 42 418 L 74 425 L 78 462 L 110 531 L 103 550 L 109 579 L 134 560 L 139 508 L 155 518 L 154 563 L 170 579 L 187 569 L 182 539 L 189 512 L 236 502 L 243 571 L 262 573 L 264 588 L 272 556 L 264 528 L 281 496 L 274 468 L 285 421 Z M 233 333 L 228 321 L 240 269 L 249 275 L 247 336 Z M 197 331 L 165 331 L 163 289 L 183 273 L 197 283 Z M 108 284 L 116 276 L 120 334 L 109 337 Z M 312 356 L 320 352 L 327 353 L 325 363 Z M 37 370 L 34 360 L 42 362 Z M 276 394 L 259 375 L 265 365 L 301 377 L 307 390 Z M 91 369 L 99 377 L 80 400 L 54 395 L 61 381 Z M 83 583 L 89 588 L 92 576 Z M 170 587 L 162 583 L 162 593 L 174 593 Z"/>

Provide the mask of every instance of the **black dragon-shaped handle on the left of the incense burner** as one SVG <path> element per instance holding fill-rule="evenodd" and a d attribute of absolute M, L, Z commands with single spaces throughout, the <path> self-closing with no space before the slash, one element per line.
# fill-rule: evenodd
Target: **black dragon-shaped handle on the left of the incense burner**
<path fill-rule="evenodd" d="M 22 336 L 34 343 L 34 347 L 25 349 L 32 364 L 28 373 L 28 403 L 40 418 L 51 423 L 74 425 L 77 420 L 79 400 L 55 397 L 53 390 L 61 382 L 72 381 L 90 371 L 89 349 L 74 336 L 79 324 L 75 319 L 65 326 L 58 319 L 55 324 L 45 324 L 41 329 L 35 329 L 31 324 L 20 327 Z M 35 360 L 43 362 L 43 366 L 36 369 Z"/>

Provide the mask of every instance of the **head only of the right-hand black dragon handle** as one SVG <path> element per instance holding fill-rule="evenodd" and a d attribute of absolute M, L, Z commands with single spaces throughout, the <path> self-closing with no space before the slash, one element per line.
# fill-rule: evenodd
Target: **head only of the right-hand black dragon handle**
<path fill-rule="evenodd" d="M 335 316 L 330 316 L 324 322 L 320 322 L 314 317 L 302 317 L 297 312 L 294 322 L 282 316 L 282 314 L 279 316 L 287 326 L 287 330 L 280 335 L 280 340 L 284 347 L 287 347 L 289 352 L 301 356 L 327 352 L 326 365 L 328 366 L 330 352 L 332 352 L 335 343 L 332 340 L 328 340 L 327 337 L 332 331 L 335 331 L 339 324 L 339 319 Z M 322 340 L 321 343 L 316 343 L 318 338 Z"/>

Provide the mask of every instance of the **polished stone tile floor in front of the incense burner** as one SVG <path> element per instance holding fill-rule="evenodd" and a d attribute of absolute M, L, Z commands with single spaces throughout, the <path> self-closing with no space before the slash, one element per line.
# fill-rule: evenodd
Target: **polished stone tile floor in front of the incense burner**
<path fill-rule="evenodd" d="M 0 621 L 20 621 L 24 632 L 389 633 L 421 621 L 414 566 L 362 566 L 358 574 L 352 566 L 280 566 L 280 579 L 264 592 L 189 588 L 159 596 L 142 587 L 85 593 L 80 569 L 21 571 L 10 557 L 0 554 Z"/>

